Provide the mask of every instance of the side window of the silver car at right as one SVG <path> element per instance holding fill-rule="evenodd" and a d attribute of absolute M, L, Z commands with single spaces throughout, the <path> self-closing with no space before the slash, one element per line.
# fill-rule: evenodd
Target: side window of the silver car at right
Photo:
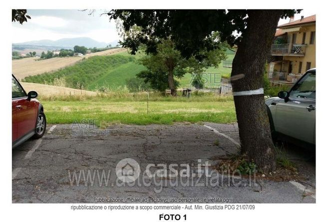
<path fill-rule="evenodd" d="M 290 97 L 316 99 L 316 71 L 308 72 L 290 92 Z"/>

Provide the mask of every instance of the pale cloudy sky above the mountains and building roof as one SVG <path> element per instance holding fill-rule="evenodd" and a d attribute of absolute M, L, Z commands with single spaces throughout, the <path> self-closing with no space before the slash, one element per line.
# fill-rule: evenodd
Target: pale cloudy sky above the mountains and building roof
<path fill-rule="evenodd" d="M 119 39 L 114 20 L 104 13 L 106 10 L 95 10 L 89 15 L 89 10 L 78 9 L 28 9 L 31 16 L 22 25 L 12 22 L 12 42 L 19 43 L 32 40 L 57 40 L 60 38 L 90 37 L 100 42 L 111 42 Z M 302 10 L 295 15 L 295 20 L 315 14 L 315 11 Z M 281 19 L 280 24 L 289 22 L 290 18 Z"/>

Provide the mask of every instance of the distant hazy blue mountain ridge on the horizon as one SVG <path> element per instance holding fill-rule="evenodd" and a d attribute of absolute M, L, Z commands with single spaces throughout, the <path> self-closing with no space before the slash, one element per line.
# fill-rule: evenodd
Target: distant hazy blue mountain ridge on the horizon
<path fill-rule="evenodd" d="M 36 40 L 36 41 L 27 41 L 21 43 L 13 43 L 12 47 L 17 46 L 43 46 L 44 48 L 47 46 L 49 48 L 73 48 L 75 45 L 85 46 L 87 48 L 102 48 L 106 47 L 107 45 L 111 44 L 112 46 L 116 46 L 118 44 L 118 40 L 105 43 L 99 42 L 92 38 L 88 37 L 78 37 L 78 38 L 61 38 L 58 40 Z"/>

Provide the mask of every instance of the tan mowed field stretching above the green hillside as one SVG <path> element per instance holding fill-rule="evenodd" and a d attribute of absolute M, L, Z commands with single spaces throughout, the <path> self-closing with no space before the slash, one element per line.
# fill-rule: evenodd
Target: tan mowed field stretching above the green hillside
<path fill-rule="evenodd" d="M 12 73 L 18 80 L 21 80 L 29 75 L 51 72 L 73 65 L 83 58 L 88 58 L 95 55 L 113 55 L 124 51 L 126 51 L 124 48 L 114 48 L 80 57 L 55 57 L 44 60 L 36 60 L 35 58 L 16 59 L 12 60 Z"/>

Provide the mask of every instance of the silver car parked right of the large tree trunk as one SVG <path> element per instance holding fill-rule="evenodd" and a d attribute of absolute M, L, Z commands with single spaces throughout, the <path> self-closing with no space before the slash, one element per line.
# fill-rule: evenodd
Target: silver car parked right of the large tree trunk
<path fill-rule="evenodd" d="M 273 138 L 316 145 L 316 68 L 308 70 L 289 92 L 267 99 L 266 105 Z"/>

